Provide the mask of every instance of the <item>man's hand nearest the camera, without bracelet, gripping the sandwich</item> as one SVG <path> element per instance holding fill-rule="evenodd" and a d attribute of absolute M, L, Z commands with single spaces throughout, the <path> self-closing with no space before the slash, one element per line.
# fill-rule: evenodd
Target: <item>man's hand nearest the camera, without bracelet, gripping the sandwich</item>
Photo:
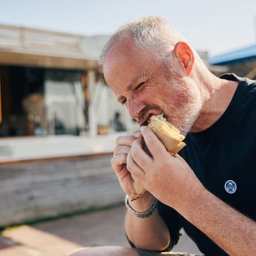
<path fill-rule="evenodd" d="M 200 193 L 202 184 L 188 163 L 178 154 L 169 154 L 150 128 L 142 127 L 141 133 L 152 157 L 142 150 L 141 138 L 133 141 L 127 158 L 128 171 L 159 201 L 178 209 L 193 193 Z"/>

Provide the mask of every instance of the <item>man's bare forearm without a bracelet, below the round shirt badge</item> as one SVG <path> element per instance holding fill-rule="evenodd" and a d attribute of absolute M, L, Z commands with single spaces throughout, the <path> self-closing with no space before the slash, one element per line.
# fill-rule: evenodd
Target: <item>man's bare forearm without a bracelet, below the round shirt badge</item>
<path fill-rule="evenodd" d="M 206 189 L 176 208 L 230 255 L 256 255 L 256 222 Z"/>

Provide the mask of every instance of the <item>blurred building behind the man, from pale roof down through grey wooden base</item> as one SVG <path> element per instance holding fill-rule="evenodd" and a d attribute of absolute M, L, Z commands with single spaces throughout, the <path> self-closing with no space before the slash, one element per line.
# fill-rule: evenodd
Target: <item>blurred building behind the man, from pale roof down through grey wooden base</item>
<path fill-rule="evenodd" d="M 0 25 L 0 228 L 123 202 L 111 155 L 137 124 L 98 67 L 106 39 Z"/>

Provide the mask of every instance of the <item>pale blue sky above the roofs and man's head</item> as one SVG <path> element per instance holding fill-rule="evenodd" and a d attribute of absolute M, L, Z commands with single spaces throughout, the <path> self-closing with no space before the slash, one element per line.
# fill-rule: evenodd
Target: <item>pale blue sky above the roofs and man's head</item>
<path fill-rule="evenodd" d="M 83 35 L 112 33 L 145 15 L 169 20 L 211 55 L 256 44 L 255 0 L 0 0 L 0 24 Z"/>

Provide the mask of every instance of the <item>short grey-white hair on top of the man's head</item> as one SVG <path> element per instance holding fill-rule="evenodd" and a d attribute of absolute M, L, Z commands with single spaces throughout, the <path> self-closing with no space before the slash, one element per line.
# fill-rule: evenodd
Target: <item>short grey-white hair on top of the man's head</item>
<path fill-rule="evenodd" d="M 120 38 L 131 38 L 136 46 L 156 52 L 158 58 L 163 60 L 167 58 L 176 42 L 184 41 L 184 37 L 163 18 L 148 16 L 139 20 L 132 20 L 120 27 L 106 42 L 100 54 L 101 64 L 111 47 Z"/>

